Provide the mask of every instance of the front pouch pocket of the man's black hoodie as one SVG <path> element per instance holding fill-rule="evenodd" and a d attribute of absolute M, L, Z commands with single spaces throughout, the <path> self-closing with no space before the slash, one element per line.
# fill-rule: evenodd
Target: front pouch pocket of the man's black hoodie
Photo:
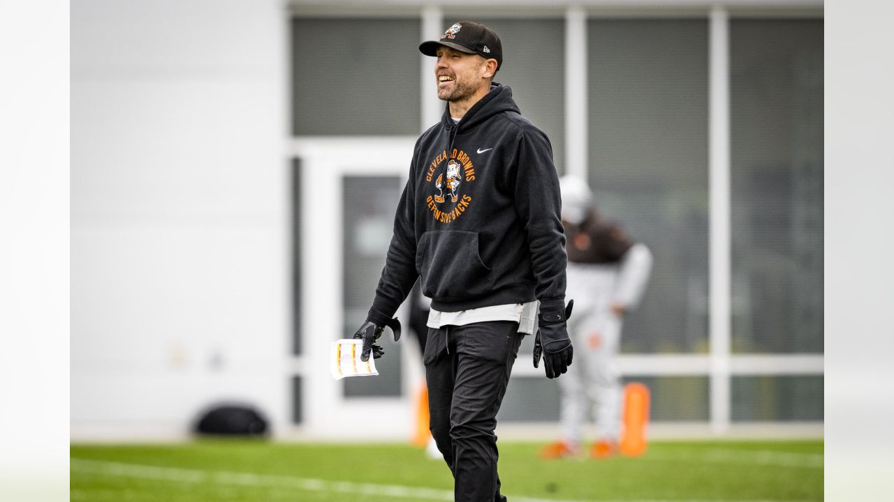
<path fill-rule="evenodd" d="M 478 255 L 478 233 L 426 232 L 416 255 L 422 293 L 430 298 L 475 298 L 493 289 L 493 271 Z"/>

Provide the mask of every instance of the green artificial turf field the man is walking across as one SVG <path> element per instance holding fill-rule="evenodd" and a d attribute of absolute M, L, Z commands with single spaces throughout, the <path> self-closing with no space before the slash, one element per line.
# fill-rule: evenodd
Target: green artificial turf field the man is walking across
<path fill-rule="evenodd" d="M 541 460 L 500 442 L 510 502 L 822 500 L 822 441 L 653 442 L 645 456 Z M 72 445 L 73 501 L 451 500 L 443 461 L 401 444 L 198 440 Z"/>

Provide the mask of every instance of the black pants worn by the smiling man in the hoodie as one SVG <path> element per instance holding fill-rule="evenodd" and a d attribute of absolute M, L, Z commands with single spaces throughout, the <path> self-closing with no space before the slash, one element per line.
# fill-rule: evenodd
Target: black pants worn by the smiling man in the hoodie
<path fill-rule="evenodd" d="M 524 336 L 518 322 L 428 330 L 429 428 L 453 473 L 457 502 L 503 502 L 497 474 L 497 412 Z"/>

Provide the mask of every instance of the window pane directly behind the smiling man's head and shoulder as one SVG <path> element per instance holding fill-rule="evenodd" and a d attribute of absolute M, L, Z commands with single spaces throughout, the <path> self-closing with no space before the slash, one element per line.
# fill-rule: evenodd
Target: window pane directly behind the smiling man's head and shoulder
<path fill-rule="evenodd" d="M 565 172 L 565 21 L 475 21 L 493 29 L 502 42 L 503 63 L 493 81 L 512 88 L 521 114 L 550 138 L 556 169 Z"/>

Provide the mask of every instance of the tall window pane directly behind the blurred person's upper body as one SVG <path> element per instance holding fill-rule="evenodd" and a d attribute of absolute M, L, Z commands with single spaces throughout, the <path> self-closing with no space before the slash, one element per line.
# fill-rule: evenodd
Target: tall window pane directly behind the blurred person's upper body
<path fill-rule="evenodd" d="M 588 24 L 589 174 L 603 216 L 654 255 L 624 352 L 708 349 L 708 25 Z"/>

